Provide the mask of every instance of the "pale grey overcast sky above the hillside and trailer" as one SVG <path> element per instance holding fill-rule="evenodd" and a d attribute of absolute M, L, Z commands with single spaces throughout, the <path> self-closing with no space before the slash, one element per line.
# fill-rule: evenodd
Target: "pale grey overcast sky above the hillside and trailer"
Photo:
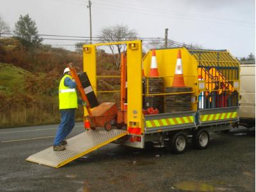
<path fill-rule="evenodd" d="M 13 29 L 29 13 L 39 34 L 90 36 L 88 0 L 0 0 L 0 15 Z M 255 54 L 255 0 L 92 0 L 92 36 L 124 24 L 141 37 L 168 38 L 234 56 Z M 74 44 L 48 40 L 49 44 Z"/>

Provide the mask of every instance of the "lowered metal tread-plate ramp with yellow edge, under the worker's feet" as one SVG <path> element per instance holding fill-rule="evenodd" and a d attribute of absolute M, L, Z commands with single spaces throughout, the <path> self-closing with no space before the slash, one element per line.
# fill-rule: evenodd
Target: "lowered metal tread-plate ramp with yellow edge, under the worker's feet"
<path fill-rule="evenodd" d="M 68 139 L 66 150 L 54 151 L 52 147 L 49 147 L 29 156 L 26 161 L 59 168 L 97 148 L 122 138 L 126 134 L 127 130 L 124 129 L 111 129 L 110 131 L 105 131 L 102 128 L 97 128 L 95 131 L 90 129 Z"/>

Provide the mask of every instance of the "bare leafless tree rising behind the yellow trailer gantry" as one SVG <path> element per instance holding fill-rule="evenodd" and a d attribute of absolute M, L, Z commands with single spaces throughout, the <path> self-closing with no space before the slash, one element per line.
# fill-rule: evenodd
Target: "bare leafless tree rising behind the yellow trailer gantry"
<path fill-rule="evenodd" d="M 122 24 L 116 24 L 115 26 L 109 26 L 102 28 L 99 33 L 100 42 L 122 42 L 127 40 L 136 39 L 138 34 L 134 29 L 129 29 L 128 26 L 124 26 Z M 111 50 L 115 65 L 117 68 L 120 67 L 120 55 L 125 50 L 124 45 L 109 45 L 109 49 Z M 115 47 L 117 49 L 118 54 L 115 54 Z"/>

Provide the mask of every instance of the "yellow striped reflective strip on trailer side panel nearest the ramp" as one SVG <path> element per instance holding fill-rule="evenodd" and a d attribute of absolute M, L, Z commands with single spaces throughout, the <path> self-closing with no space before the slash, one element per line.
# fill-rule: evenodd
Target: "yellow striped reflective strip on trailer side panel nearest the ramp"
<path fill-rule="evenodd" d="M 175 117 L 175 118 L 147 120 L 146 126 L 147 128 L 151 128 L 151 127 L 162 127 L 162 126 L 168 126 L 168 125 L 191 124 L 193 122 L 194 122 L 193 116 L 182 116 L 182 117 Z"/>

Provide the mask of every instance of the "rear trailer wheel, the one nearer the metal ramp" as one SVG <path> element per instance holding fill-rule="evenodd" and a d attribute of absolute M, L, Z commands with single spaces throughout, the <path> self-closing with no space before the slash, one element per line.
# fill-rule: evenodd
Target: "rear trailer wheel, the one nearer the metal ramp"
<path fill-rule="evenodd" d="M 188 145 L 188 136 L 184 132 L 172 134 L 169 138 L 170 150 L 173 154 L 182 154 Z"/>

